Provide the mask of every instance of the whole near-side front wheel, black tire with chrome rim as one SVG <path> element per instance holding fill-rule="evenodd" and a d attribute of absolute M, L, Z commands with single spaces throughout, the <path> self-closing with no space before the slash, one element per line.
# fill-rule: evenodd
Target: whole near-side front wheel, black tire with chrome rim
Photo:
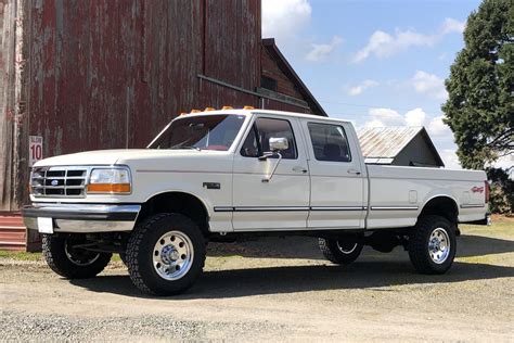
<path fill-rule="evenodd" d="M 174 213 L 152 216 L 129 239 L 130 279 L 144 293 L 181 293 L 202 272 L 205 247 L 204 236 L 190 218 Z"/>

